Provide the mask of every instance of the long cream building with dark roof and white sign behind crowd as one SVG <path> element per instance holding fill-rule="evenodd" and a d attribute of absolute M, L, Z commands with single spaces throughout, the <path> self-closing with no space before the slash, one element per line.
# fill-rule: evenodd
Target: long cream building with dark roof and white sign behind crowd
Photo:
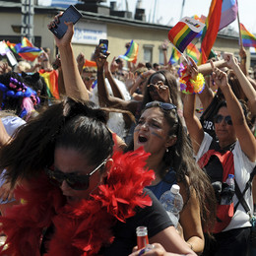
<path fill-rule="evenodd" d="M 36 2 L 36 1 L 35 1 Z M 0 1 L 1 27 L 0 40 L 9 40 L 10 42 L 21 41 L 22 14 L 21 3 L 17 1 Z M 75 26 L 73 37 L 74 53 L 77 56 L 83 52 L 87 59 L 91 59 L 99 38 L 109 40 L 108 49 L 110 51 L 109 61 L 113 57 L 126 52 L 125 44 L 132 39 L 139 44 L 138 61 L 163 63 L 161 43 L 167 39 L 168 31 L 171 27 L 159 24 L 151 24 L 142 20 L 135 20 L 130 15 L 119 17 L 110 12 L 110 14 L 88 12 L 82 9 L 83 5 L 78 5 L 83 18 Z M 99 8 L 98 8 L 99 10 Z M 33 15 L 33 35 L 34 45 L 37 47 L 49 47 L 53 57 L 56 53 L 54 36 L 47 29 L 47 24 L 62 8 L 45 7 L 34 4 Z M 118 14 L 117 14 L 118 15 Z M 200 42 L 196 43 L 200 48 Z M 171 55 L 172 46 L 169 44 L 167 56 Z M 233 52 L 238 56 L 238 35 L 220 32 L 214 45 L 214 50 L 218 52 Z M 248 59 L 250 59 L 250 52 Z M 250 65 L 248 61 L 248 65 Z"/>

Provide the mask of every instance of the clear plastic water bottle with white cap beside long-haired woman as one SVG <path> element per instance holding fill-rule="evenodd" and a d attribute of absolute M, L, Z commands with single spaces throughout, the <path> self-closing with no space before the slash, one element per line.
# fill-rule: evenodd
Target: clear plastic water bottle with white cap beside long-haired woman
<path fill-rule="evenodd" d="M 178 226 L 179 212 L 183 208 L 183 199 L 179 194 L 179 189 L 179 185 L 173 184 L 170 190 L 160 196 L 160 203 L 175 227 Z"/>

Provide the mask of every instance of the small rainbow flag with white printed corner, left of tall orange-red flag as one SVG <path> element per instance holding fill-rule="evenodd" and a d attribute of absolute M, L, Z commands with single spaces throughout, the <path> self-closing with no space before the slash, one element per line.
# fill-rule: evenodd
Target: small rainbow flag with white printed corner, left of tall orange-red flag
<path fill-rule="evenodd" d="M 169 32 L 168 38 L 170 42 L 181 52 L 185 50 L 187 45 L 202 31 L 205 27 L 201 22 L 184 17 Z"/>

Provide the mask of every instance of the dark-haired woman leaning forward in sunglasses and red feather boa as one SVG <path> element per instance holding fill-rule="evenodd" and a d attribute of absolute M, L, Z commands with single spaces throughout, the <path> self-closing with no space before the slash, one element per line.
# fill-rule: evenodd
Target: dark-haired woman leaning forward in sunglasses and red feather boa
<path fill-rule="evenodd" d="M 136 227 L 151 243 L 195 255 L 158 200 L 143 151 L 114 152 L 107 113 L 68 98 L 50 106 L 0 151 L 1 167 L 22 203 L 0 218 L 0 255 L 128 255 Z"/>

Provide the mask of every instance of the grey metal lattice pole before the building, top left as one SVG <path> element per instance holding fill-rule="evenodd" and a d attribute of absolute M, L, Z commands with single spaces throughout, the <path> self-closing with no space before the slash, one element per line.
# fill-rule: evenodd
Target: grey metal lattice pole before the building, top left
<path fill-rule="evenodd" d="M 34 0 L 22 0 L 22 38 L 26 36 L 33 43 Z"/>

